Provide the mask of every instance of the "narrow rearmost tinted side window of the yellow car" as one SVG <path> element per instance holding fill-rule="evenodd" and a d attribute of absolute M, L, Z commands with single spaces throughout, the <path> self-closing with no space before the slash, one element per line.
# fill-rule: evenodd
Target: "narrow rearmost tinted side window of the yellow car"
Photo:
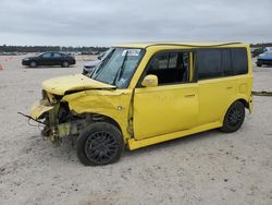
<path fill-rule="evenodd" d="M 247 50 L 244 48 L 233 48 L 232 63 L 235 75 L 248 73 Z"/>

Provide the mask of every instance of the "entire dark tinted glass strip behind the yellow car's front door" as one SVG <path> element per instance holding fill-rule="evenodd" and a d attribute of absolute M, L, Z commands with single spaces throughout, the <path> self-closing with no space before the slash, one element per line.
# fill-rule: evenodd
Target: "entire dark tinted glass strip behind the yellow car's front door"
<path fill-rule="evenodd" d="M 246 74 L 247 50 L 244 48 L 203 49 L 197 52 L 198 80 Z"/>

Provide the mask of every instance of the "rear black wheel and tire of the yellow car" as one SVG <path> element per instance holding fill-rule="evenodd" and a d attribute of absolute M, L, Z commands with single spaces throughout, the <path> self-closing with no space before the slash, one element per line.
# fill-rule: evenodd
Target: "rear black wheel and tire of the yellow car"
<path fill-rule="evenodd" d="M 221 131 L 226 133 L 236 132 L 245 119 L 245 106 L 242 101 L 235 101 L 227 109 Z"/>

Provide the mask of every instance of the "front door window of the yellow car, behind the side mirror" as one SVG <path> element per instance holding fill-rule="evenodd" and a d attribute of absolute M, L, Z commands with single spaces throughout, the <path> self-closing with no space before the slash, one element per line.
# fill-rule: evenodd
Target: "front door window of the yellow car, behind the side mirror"
<path fill-rule="evenodd" d="M 146 75 L 157 75 L 159 85 L 187 83 L 189 52 L 163 52 L 152 57 Z"/>

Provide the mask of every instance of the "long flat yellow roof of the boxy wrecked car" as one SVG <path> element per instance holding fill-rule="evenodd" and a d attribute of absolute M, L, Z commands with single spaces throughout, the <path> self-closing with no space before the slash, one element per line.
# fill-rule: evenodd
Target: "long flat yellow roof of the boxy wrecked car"
<path fill-rule="evenodd" d="M 220 46 L 247 46 L 243 43 L 135 43 L 135 44 L 120 44 L 114 47 L 125 48 L 148 48 L 154 46 L 177 46 L 177 47 L 220 47 Z"/>

